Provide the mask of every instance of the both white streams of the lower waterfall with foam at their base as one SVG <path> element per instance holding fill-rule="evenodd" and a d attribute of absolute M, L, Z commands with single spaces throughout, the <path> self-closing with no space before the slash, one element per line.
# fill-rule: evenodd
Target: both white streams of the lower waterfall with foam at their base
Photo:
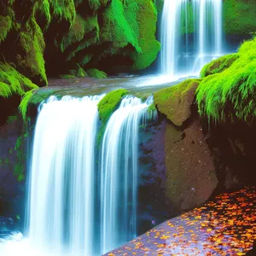
<path fill-rule="evenodd" d="M 155 118 L 127 96 L 109 119 L 96 169 L 97 103 L 55 96 L 41 105 L 32 153 L 28 231 L 0 241 L 4 256 L 93 256 L 137 236 L 140 125 Z"/>

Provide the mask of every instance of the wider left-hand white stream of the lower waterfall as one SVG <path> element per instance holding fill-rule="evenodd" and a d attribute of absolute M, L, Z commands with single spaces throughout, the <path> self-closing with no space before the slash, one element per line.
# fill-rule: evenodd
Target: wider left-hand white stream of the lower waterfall
<path fill-rule="evenodd" d="M 28 236 L 45 255 L 94 254 L 98 96 L 54 96 L 35 130 Z"/>

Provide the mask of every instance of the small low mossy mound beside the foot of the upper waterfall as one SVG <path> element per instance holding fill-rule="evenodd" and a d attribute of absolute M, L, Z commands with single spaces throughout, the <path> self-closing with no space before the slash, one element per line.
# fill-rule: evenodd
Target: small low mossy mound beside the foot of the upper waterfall
<path fill-rule="evenodd" d="M 205 78 L 215 73 L 222 73 L 225 69 L 229 68 L 234 61 L 239 58 L 237 54 L 224 55 L 207 64 L 201 70 L 201 78 Z"/>

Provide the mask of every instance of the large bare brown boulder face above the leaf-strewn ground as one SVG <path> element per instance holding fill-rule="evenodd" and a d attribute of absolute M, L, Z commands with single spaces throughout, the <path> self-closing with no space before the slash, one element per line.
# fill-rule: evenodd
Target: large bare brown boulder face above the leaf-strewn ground
<path fill-rule="evenodd" d="M 199 119 L 184 131 L 166 125 L 166 198 L 177 212 L 207 201 L 218 185 Z"/>

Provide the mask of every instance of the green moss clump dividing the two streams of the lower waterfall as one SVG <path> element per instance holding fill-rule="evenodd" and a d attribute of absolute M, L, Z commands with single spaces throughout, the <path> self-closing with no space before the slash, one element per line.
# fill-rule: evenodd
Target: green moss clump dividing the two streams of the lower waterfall
<path fill-rule="evenodd" d="M 102 141 L 104 131 L 108 124 L 108 119 L 110 118 L 114 110 L 118 107 L 122 97 L 125 96 L 127 93 L 128 91 L 125 89 L 110 91 L 98 103 L 99 117 L 102 121 L 102 126 L 100 131 L 98 131 L 98 136 L 97 136 L 98 144 Z"/>

